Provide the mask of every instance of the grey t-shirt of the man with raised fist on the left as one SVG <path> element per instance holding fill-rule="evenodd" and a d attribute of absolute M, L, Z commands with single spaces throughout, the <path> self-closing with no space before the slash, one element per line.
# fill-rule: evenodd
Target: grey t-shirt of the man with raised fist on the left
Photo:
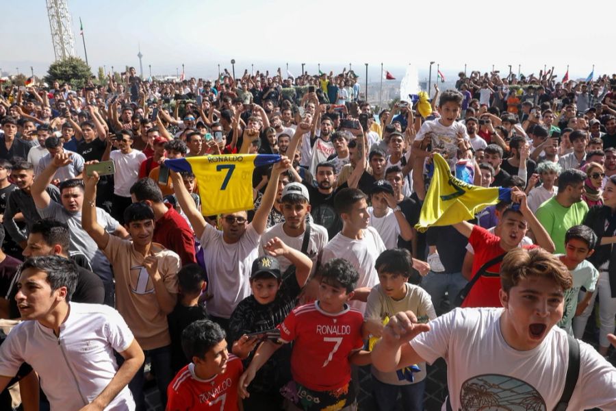
<path fill-rule="evenodd" d="M 54 219 L 68 225 L 68 230 L 70 231 L 70 251 L 81 251 L 81 253 L 84 253 L 88 260 L 90 260 L 92 271 L 101 277 L 103 282 L 112 281 L 114 276 L 107 257 L 99 250 L 99 246 L 90 237 L 90 234 L 81 228 L 81 211 L 70 213 L 61 204 L 54 201 L 51 201 L 47 208 L 37 208 L 37 210 L 43 219 Z M 117 220 L 98 207 L 97 222 L 110 234 L 116 231 L 120 225 Z"/>

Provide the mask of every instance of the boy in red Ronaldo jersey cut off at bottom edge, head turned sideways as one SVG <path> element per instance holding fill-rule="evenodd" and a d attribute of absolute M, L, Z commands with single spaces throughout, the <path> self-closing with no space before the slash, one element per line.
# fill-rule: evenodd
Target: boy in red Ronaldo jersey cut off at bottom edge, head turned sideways
<path fill-rule="evenodd" d="M 182 332 L 182 349 L 192 362 L 167 388 L 166 411 L 242 410 L 238 381 L 244 366 L 229 354 L 224 331 L 209 321 L 195 321 Z"/>

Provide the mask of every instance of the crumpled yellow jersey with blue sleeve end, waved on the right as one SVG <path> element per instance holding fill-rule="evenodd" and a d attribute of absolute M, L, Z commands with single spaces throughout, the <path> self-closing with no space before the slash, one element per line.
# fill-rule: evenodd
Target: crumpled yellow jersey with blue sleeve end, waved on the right
<path fill-rule="evenodd" d="M 433 162 L 434 174 L 415 225 L 418 232 L 474 219 L 477 212 L 491 204 L 511 201 L 511 188 L 473 186 L 451 175 L 449 164 L 440 154 L 434 155 Z"/>

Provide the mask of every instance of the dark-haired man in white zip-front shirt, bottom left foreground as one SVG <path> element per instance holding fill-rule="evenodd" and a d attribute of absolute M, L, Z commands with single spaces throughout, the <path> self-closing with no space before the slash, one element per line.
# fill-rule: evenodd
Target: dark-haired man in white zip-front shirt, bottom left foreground
<path fill-rule="evenodd" d="M 116 310 L 70 302 L 77 276 L 75 264 L 59 256 L 21 266 L 15 299 L 24 321 L 0 346 L 0 392 L 27 362 L 53 410 L 134 410 L 127 384 L 143 351 Z"/>

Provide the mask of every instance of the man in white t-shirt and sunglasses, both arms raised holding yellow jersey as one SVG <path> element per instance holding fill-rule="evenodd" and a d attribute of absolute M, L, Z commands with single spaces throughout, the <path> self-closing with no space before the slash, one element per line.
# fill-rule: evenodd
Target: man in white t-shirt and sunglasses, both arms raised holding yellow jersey
<path fill-rule="evenodd" d="M 280 175 L 290 166 L 291 162 L 286 157 L 274 164 L 261 206 L 255 211 L 250 224 L 245 211 L 225 213 L 222 214 L 222 231 L 205 222 L 203 214 L 196 208 L 194 200 L 186 190 L 181 175 L 170 171 L 177 201 L 203 247 L 205 269 L 208 273 L 208 293 L 211 295 L 211 299 L 207 300 L 207 313 L 212 321 L 224 329 L 228 328 L 235 306 L 251 295 L 248 279 L 253 261 L 259 256 L 259 241 L 266 230 L 268 214 L 274 205 Z M 252 186 L 250 181 L 246 184 Z"/>

